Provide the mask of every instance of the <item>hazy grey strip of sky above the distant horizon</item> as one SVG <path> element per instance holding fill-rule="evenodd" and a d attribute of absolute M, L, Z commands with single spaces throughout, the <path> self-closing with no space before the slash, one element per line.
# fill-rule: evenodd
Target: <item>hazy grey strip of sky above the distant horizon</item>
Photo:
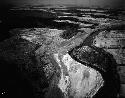
<path fill-rule="evenodd" d="M 125 0 L 0 0 L 0 5 L 76 5 L 76 6 L 98 6 L 111 8 L 125 8 Z"/>

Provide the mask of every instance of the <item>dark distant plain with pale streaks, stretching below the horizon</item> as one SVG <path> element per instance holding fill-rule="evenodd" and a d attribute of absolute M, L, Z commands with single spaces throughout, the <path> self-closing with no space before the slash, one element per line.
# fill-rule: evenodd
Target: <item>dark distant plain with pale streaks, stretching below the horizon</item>
<path fill-rule="evenodd" d="M 95 29 L 100 25 L 125 21 L 122 9 L 101 9 L 82 7 L 23 7 L 1 8 L 1 40 L 11 36 L 9 30 L 14 28 L 56 28 L 71 31 Z"/>

